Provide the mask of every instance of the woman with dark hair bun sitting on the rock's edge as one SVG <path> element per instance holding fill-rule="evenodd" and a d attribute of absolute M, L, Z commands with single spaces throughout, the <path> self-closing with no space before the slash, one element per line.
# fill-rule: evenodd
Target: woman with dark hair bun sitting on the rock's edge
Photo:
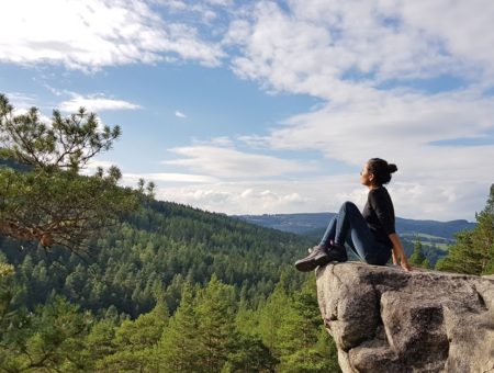
<path fill-rule="evenodd" d="M 388 190 L 391 173 L 397 171 L 380 158 L 370 159 L 360 172 L 360 182 L 369 188 L 362 213 L 351 202 L 345 202 L 329 222 L 321 244 L 304 259 L 295 262 L 302 272 L 314 270 L 330 261 L 347 261 L 345 244 L 364 262 L 385 265 L 393 258 L 405 271 L 412 268 L 394 227 L 394 208 Z"/>

